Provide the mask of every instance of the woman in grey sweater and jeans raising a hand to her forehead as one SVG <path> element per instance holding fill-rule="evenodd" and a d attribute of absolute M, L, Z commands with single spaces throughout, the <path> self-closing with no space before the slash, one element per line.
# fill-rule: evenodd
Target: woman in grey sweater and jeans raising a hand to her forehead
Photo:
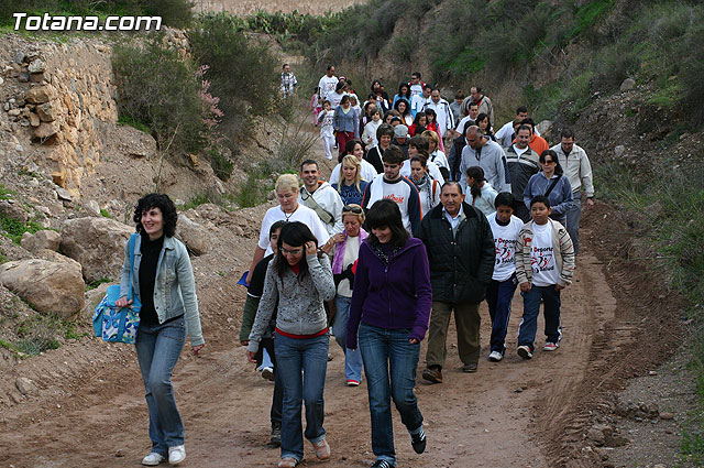
<path fill-rule="evenodd" d="M 304 458 L 301 402 L 306 403 L 306 438 L 318 459 L 330 458 L 322 427 L 328 366 L 328 318 L 323 302 L 332 300 L 334 294 L 330 261 L 318 252 L 316 237 L 302 222 L 287 222 L 277 240 L 276 258 L 266 269 L 264 293 L 246 349 L 248 359 L 254 362 L 262 335 L 277 309 L 274 348 L 284 388 L 278 468 L 293 468 Z"/>

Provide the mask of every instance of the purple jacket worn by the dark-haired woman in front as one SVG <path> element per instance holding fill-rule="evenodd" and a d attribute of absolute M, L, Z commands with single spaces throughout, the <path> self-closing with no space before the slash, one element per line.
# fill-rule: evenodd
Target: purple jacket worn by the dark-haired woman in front
<path fill-rule="evenodd" d="M 360 246 L 348 320 L 348 348 L 356 348 L 360 322 L 373 327 L 409 328 L 408 338 L 422 340 L 432 306 L 426 247 L 416 238 L 385 265 L 369 241 Z"/>

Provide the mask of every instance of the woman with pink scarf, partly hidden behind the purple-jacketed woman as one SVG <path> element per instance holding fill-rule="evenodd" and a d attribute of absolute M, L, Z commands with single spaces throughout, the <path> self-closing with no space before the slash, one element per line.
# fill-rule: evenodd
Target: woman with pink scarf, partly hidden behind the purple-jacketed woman
<path fill-rule="evenodd" d="M 345 205 L 342 208 L 342 222 L 344 231 L 330 238 L 322 248 L 327 253 L 332 251 L 332 277 L 338 287 L 334 296 L 337 312 L 332 319 L 332 333 L 334 340 L 344 352 L 344 377 L 348 387 L 359 387 L 362 381 L 362 353 L 358 349 L 346 347 L 348 319 L 350 316 L 350 302 L 352 301 L 352 286 L 354 285 L 354 271 L 356 260 L 360 257 L 360 243 L 364 242 L 367 233 L 362 229 L 364 211 L 358 204 Z"/>

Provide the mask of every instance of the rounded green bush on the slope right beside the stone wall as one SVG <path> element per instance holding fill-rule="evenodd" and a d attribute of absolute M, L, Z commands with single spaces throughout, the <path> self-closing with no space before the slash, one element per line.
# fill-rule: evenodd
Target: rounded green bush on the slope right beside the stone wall
<path fill-rule="evenodd" d="M 123 121 L 148 127 L 162 151 L 206 146 L 201 84 L 191 63 L 151 39 L 142 46 L 116 46 L 112 67 Z"/>

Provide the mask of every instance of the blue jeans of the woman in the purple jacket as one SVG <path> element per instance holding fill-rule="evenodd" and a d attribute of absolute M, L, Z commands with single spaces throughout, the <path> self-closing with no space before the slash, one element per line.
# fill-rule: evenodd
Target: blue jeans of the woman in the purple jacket
<path fill-rule="evenodd" d="M 372 414 L 372 450 L 376 459 L 392 465 L 396 465 L 396 451 L 389 398 L 409 432 L 415 433 L 422 426 L 422 415 L 414 393 L 420 344 L 411 345 L 409 334 L 409 329 L 393 330 L 360 324 L 360 349 Z"/>

